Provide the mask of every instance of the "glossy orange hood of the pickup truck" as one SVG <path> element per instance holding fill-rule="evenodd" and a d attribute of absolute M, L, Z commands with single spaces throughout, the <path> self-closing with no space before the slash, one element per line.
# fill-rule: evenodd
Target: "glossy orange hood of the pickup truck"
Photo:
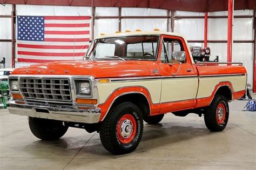
<path fill-rule="evenodd" d="M 95 78 L 150 76 L 156 62 L 132 60 L 72 60 L 34 64 L 16 69 L 12 74 L 89 75 Z"/>

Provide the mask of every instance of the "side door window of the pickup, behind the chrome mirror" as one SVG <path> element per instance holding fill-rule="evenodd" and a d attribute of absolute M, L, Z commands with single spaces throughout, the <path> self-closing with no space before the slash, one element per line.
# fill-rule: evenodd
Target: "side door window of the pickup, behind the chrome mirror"
<path fill-rule="evenodd" d="M 180 40 L 164 38 L 161 48 L 161 62 L 173 63 L 181 62 L 185 63 L 185 51 Z"/>

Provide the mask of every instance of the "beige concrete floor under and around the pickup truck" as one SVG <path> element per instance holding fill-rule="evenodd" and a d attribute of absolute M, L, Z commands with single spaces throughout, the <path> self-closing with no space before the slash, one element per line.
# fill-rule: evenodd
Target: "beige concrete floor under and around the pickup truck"
<path fill-rule="evenodd" d="M 144 124 L 140 145 L 126 155 L 110 154 L 98 133 L 76 128 L 56 141 L 39 140 L 26 117 L 2 109 L 0 169 L 256 169 L 256 112 L 241 111 L 245 103 L 230 103 L 223 132 L 209 132 L 195 114 L 166 114 L 161 124 Z"/>

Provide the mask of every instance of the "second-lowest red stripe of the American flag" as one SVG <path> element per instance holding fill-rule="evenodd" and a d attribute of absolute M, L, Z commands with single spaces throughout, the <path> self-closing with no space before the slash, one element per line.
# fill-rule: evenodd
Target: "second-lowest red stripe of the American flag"
<path fill-rule="evenodd" d="M 52 56 L 52 57 L 77 57 L 84 56 L 85 52 L 30 52 L 30 51 L 18 51 L 18 55 L 28 55 L 28 56 Z"/>

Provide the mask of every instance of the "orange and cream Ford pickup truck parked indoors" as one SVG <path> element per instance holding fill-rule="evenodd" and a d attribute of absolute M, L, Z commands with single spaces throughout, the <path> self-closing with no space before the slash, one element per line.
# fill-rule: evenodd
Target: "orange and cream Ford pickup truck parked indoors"
<path fill-rule="evenodd" d="M 28 116 L 39 139 L 84 128 L 99 132 L 107 151 L 124 154 L 139 145 L 143 121 L 157 124 L 165 113 L 203 114 L 208 130 L 224 130 L 228 101 L 244 95 L 246 81 L 241 63 L 194 63 L 176 33 L 117 32 L 93 40 L 83 60 L 16 69 L 8 109 Z"/>

